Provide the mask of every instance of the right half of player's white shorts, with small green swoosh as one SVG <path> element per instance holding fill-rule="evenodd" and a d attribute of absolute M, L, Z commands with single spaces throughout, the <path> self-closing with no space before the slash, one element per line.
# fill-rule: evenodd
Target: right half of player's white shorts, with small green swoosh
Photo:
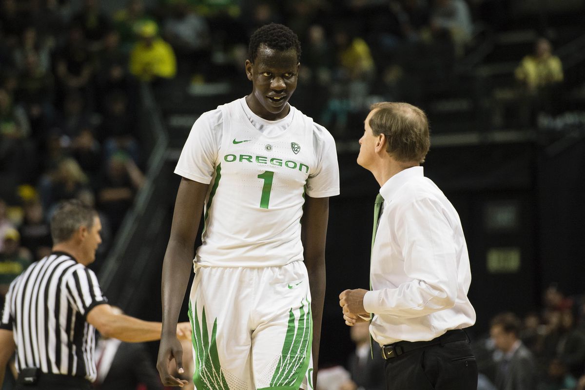
<path fill-rule="evenodd" d="M 311 293 L 301 261 L 264 269 L 252 318 L 256 389 L 312 389 Z"/>

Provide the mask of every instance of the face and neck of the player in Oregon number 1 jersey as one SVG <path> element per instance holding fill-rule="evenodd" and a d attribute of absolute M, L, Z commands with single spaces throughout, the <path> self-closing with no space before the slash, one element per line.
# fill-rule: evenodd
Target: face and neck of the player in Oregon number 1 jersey
<path fill-rule="evenodd" d="M 246 102 L 252 112 L 267 120 L 284 118 L 300 66 L 296 49 L 280 51 L 261 44 L 254 63 L 246 60 L 246 75 L 253 86 Z"/>

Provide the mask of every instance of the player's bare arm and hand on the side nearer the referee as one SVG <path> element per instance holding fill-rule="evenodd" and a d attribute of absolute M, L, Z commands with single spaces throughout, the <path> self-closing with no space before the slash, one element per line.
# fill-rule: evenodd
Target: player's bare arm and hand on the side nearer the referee
<path fill-rule="evenodd" d="M 187 384 L 187 381 L 168 372 L 168 364 L 174 359 L 177 369 L 183 371 L 183 348 L 176 335 L 177 321 L 191 274 L 193 247 L 208 187 L 208 184 L 183 178 L 177 191 L 173 224 L 163 262 L 163 329 L 156 365 L 165 386 L 183 387 Z"/>

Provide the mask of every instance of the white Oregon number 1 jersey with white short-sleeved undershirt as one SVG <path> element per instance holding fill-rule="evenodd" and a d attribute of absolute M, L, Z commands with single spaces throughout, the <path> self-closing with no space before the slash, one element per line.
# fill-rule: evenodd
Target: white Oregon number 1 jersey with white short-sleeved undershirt
<path fill-rule="evenodd" d="M 242 98 L 201 115 L 175 170 L 209 183 L 195 257 L 200 265 L 269 267 L 302 260 L 305 193 L 339 194 L 335 141 L 324 127 L 291 106 L 284 131 L 261 132 L 245 104 Z"/>

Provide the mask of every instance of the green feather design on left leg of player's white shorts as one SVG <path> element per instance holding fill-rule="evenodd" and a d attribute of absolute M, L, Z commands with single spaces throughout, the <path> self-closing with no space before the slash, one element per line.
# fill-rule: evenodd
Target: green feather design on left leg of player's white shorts
<path fill-rule="evenodd" d="M 202 310 L 202 321 L 199 324 L 197 316 L 197 303 L 195 311 L 189 302 L 189 319 L 191 320 L 191 341 L 195 349 L 195 372 L 193 382 L 197 390 L 229 390 L 228 382 L 223 376 L 221 364 L 219 363 L 218 348 L 216 344 L 216 333 L 218 320 L 214 321 L 211 330 L 211 340 L 207 329 L 205 307 Z"/>

